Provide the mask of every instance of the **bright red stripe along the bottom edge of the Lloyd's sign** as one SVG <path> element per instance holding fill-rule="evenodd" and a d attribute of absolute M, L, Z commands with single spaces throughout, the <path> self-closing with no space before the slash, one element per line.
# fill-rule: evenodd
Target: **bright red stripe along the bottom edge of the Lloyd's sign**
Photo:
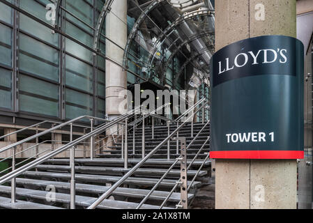
<path fill-rule="evenodd" d="M 211 159 L 293 160 L 303 159 L 304 151 L 212 151 Z"/>

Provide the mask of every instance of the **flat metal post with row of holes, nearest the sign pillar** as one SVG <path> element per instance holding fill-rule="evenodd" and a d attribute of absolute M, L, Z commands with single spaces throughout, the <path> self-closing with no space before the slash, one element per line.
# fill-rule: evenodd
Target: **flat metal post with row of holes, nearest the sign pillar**
<path fill-rule="evenodd" d="M 187 150 L 186 139 L 181 137 L 181 205 L 188 209 L 188 184 L 187 184 Z"/>

